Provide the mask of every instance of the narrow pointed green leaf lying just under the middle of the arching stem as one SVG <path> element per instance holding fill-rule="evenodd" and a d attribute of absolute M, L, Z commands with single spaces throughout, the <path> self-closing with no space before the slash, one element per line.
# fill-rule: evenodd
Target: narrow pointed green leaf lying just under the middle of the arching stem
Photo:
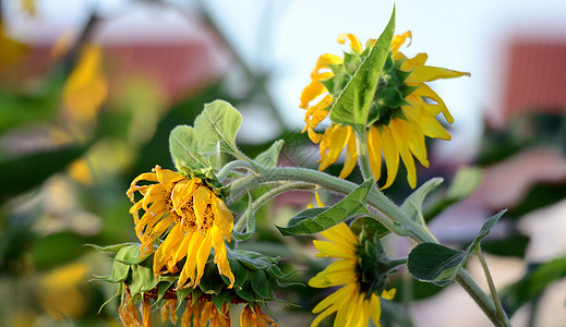
<path fill-rule="evenodd" d="M 354 214 L 364 211 L 368 193 L 373 184 L 373 179 L 369 179 L 334 206 L 317 208 L 318 210 L 306 209 L 298 215 L 299 218 L 291 218 L 288 227 L 276 227 L 282 235 L 308 235 L 326 230 Z M 312 217 L 313 214 L 316 216 Z"/>

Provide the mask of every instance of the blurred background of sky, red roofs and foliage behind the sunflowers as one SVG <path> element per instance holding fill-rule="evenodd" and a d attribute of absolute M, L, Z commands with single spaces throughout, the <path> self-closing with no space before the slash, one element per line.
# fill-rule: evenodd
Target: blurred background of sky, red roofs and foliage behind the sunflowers
<path fill-rule="evenodd" d="M 248 155 L 282 138 L 280 165 L 316 168 L 298 108 L 310 71 L 320 55 L 347 50 L 340 33 L 377 37 L 393 4 L 0 0 L 0 326 L 119 325 L 117 302 L 98 313 L 115 287 L 87 282 L 111 259 L 83 245 L 135 240 L 125 190 L 155 165 L 173 168 L 169 131 L 192 124 L 204 104 L 241 110 Z M 566 2 L 398 1 L 396 12 L 396 32 L 413 35 L 404 53 L 471 72 L 432 84 L 455 123 L 419 173 L 420 183 L 446 180 L 426 203 L 431 229 L 466 246 L 508 208 L 483 246 L 511 322 L 565 326 Z M 410 192 L 404 175 L 386 191 L 397 203 Z M 282 255 L 302 281 L 326 263 L 301 253 L 311 239 L 281 239 L 273 222 L 306 203 L 302 193 L 277 198 L 243 245 Z M 387 246 L 402 255 L 411 244 Z M 483 282 L 474 259 L 468 268 Z M 384 305 L 384 326 L 490 326 L 459 286 L 405 271 L 392 286 L 399 295 Z M 277 307 L 280 325 L 303 326 L 325 294 L 280 295 L 303 306 Z"/>

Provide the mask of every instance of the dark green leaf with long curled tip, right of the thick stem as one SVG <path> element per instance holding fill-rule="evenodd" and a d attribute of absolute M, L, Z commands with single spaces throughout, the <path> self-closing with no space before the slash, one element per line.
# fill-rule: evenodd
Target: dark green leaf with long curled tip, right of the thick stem
<path fill-rule="evenodd" d="M 463 265 L 475 250 L 481 240 L 487 235 L 493 226 L 499 220 L 505 210 L 487 219 L 478 237 L 466 249 L 456 251 L 436 243 L 421 243 L 409 254 L 407 267 L 412 277 L 444 287 L 449 284 L 460 272 Z"/>

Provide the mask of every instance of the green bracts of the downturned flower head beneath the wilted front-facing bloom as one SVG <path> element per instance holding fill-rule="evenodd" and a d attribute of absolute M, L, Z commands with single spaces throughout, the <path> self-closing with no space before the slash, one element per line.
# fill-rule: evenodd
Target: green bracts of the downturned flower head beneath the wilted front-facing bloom
<path fill-rule="evenodd" d="M 119 296 L 125 288 L 134 301 L 144 293 L 155 298 L 156 306 L 164 303 L 166 293 L 171 296 L 174 293 L 178 306 L 184 300 L 196 301 L 200 296 L 206 296 L 220 310 L 225 304 L 231 303 L 257 303 L 267 311 L 266 301 L 285 302 L 275 298 L 275 287 L 286 287 L 291 283 L 285 282 L 292 272 L 284 274 L 277 265 L 278 258 L 262 255 L 250 251 L 231 251 L 228 249 L 227 257 L 230 268 L 234 274 L 236 283 L 228 289 L 230 280 L 220 276 L 209 257 L 204 276 L 196 288 L 174 289 L 179 274 L 155 275 L 153 271 L 153 255 L 140 257 L 139 243 L 117 244 L 107 247 L 94 245 L 101 252 L 117 252 L 112 266 L 112 275 L 97 276 L 97 280 L 118 283 L 118 293 L 111 300 Z M 106 303 L 105 303 L 106 304 Z"/>

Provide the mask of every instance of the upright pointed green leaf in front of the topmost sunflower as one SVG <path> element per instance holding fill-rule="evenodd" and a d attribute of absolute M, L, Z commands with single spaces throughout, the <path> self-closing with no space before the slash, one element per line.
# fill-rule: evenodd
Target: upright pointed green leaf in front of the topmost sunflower
<path fill-rule="evenodd" d="M 368 112 L 388 55 L 395 31 L 395 9 L 389 23 L 372 47 L 370 55 L 330 108 L 330 120 L 351 125 L 359 133 L 365 130 Z"/>

